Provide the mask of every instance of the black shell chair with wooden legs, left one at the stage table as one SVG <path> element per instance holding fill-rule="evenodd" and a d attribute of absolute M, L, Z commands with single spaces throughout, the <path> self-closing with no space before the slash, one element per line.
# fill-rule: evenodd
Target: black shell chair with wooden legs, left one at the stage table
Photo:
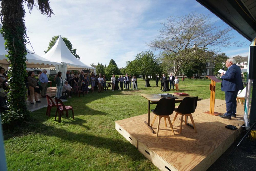
<path fill-rule="evenodd" d="M 156 116 L 159 117 L 156 136 L 158 136 L 160 120 L 162 117 L 164 117 L 165 127 L 167 127 L 167 124 L 166 124 L 166 118 L 167 118 L 169 121 L 170 127 L 173 131 L 173 125 L 171 123 L 169 115 L 171 115 L 173 113 L 174 108 L 175 108 L 175 99 L 174 98 L 171 98 L 171 99 L 162 98 L 157 103 L 155 110 L 151 110 L 155 114 L 153 121 L 151 123 L 151 127 L 155 122 Z M 173 134 L 174 134 L 174 131 L 173 131 Z"/>

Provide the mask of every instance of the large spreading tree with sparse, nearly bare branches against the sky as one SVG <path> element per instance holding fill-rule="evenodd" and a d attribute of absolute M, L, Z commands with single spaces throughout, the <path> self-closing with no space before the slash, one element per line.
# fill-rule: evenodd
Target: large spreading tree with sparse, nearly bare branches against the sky
<path fill-rule="evenodd" d="M 215 26 L 204 14 L 192 12 L 186 16 L 169 17 L 167 20 L 167 23 L 162 23 L 159 36 L 148 45 L 154 50 L 160 50 L 170 60 L 174 75 L 191 57 L 199 60 L 205 58 L 205 53 L 200 52 L 231 45 L 230 39 L 233 36 L 229 31 L 232 29 Z M 232 45 L 237 46 L 237 43 Z"/>

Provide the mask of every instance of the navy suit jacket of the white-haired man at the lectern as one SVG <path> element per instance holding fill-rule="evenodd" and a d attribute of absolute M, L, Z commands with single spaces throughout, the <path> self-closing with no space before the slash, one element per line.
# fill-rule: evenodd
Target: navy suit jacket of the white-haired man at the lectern
<path fill-rule="evenodd" d="M 242 72 L 239 66 L 233 64 L 221 77 L 221 91 L 243 90 Z"/>

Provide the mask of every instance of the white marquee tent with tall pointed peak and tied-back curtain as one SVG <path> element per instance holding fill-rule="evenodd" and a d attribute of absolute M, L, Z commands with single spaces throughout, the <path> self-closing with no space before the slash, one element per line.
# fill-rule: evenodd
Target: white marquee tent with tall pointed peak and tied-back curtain
<path fill-rule="evenodd" d="M 49 60 L 53 60 L 55 62 L 66 64 L 65 66 L 62 66 L 63 68 L 66 68 L 66 70 L 89 69 L 96 73 L 96 68 L 84 64 L 69 51 L 61 36 L 58 38 L 51 50 L 49 50 L 43 57 Z M 59 71 L 61 71 L 62 73 L 66 73 L 63 72 L 65 70 L 61 69 L 61 67 L 56 66 L 56 72 Z M 63 79 L 65 79 L 66 74 L 63 74 L 62 77 Z"/>

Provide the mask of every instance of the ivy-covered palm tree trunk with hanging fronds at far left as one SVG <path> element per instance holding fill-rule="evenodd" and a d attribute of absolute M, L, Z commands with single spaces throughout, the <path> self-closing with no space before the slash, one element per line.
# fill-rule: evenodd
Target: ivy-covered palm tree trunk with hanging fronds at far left
<path fill-rule="evenodd" d="M 6 55 L 11 65 L 8 70 L 8 105 L 10 110 L 2 117 L 3 123 L 13 120 L 23 120 L 28 115 L 25 103 L 25 83 L 26 77 L 26 27 L 24 24 L 25 9 L 27 4 L 29 11 L 36 6 L 42 14 L 50 17 L 53 12 L 49 6 L 49 1 L 34 0 L 2 0 L 1 1 L 1 33 L 5 40 Z"/>

